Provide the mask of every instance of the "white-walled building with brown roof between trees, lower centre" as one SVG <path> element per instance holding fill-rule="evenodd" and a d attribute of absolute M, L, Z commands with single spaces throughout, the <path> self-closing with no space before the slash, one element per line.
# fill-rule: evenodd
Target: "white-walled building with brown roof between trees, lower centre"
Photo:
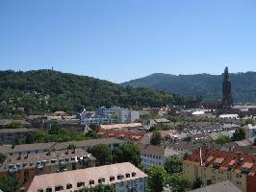
<path fill-rule="evenodd" d="M 166 159 L 170 156 L 180 156 L 170 148 L 154 145 L 138 145 L 141 150 L 141 164 L 148 169 L 154 165 L 165 165 Z"/>

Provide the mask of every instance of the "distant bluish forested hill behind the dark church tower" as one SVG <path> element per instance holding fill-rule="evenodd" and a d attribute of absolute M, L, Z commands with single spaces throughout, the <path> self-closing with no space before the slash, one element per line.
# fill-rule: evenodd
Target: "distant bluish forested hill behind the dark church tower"
<path fill-rule="evenodd" d="M 235 102 L 256 102 L 256 72 L 230 74 L 232 94 Z M 134 87 L 153 87 L 182 95 L 200 95 L 204 99 L 221 98 L 221 75 L 168 75 L 156 73 L 133 80 L 125 85 Z"/>

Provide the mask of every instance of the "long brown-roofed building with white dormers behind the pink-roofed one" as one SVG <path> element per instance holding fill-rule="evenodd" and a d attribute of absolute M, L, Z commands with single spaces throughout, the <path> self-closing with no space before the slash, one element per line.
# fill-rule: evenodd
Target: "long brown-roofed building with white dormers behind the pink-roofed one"
<path fill-rule="evenodd" d="M 8 156 L 0 167 L 0 177 L 18 177 L 21 183 L 35 176 L 95 166 L 95 158 L 82 149 L 49 151 Z"/>

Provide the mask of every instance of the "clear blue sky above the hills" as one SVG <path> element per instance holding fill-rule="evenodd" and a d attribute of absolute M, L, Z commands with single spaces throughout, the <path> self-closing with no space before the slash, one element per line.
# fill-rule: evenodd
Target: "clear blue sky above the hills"
<path fill-rule="evenodd" d="M 0 0 L 0 70 L 122 83 L 256 71 L 255 0 Z"/>

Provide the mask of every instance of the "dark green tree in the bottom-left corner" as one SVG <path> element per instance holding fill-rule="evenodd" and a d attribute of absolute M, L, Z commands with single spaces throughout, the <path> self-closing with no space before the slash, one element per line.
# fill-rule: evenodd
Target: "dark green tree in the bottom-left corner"
<path fill-rule="evenodd" d="M 5 190 L 5 192 L 13 192 L 21 187 L 20 180 L 15 179 L 11 176 L 6 176 L 0 178 L 0 189 Z"/>

